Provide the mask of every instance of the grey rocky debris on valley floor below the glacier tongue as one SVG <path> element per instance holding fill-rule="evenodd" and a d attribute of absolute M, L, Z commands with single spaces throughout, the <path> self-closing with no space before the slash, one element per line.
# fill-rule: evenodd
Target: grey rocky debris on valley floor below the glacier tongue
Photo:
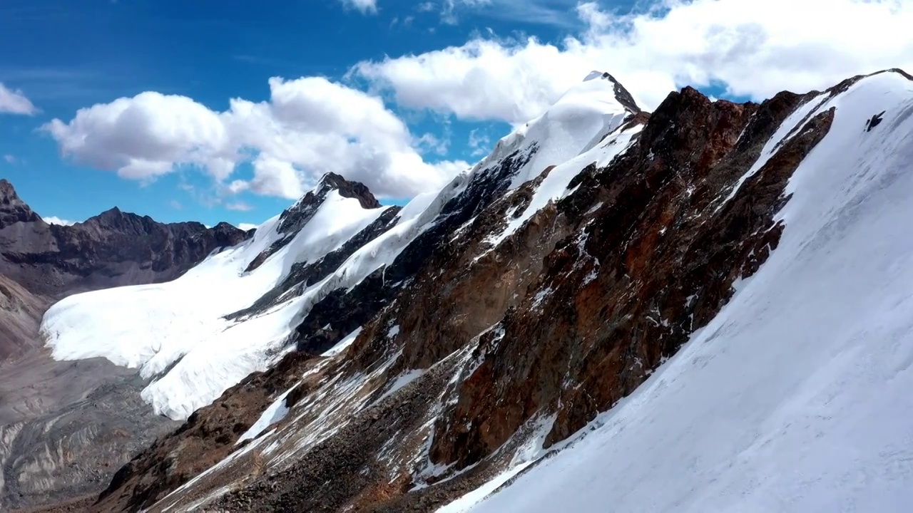
<path fill-rule="evenodd" d="M 109 361 L 53 361 L 42 351 L 0 374 L 4 510 L 98 494 L 133 452 L 173 427 L 142 402 L 148 382 Z"/>

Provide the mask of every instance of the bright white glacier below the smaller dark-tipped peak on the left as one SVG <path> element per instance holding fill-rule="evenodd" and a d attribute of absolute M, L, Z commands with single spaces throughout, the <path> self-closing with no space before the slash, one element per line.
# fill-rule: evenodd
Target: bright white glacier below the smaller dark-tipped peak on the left
<path fill-rule="evenodd" d="M 281 238 L 278 216 L 259 226 L 252 240 L 206 258 L 172 282 L 61 300 L 42 322 L 47 345 L 58 360 L 103 357 L 138 367 L 143 377 L 163 374 L 142 397 L 157 413 L 184 418 L 250 372 L 266 368 L 269 352 L 295 328 L 303 298 L 245 322 L 224 316 L 249 307 L 287 276 L 292 264 L 322 257 L 382 212 L 331 191 L 294 240 L 257 269 L 245 272 Z"/>

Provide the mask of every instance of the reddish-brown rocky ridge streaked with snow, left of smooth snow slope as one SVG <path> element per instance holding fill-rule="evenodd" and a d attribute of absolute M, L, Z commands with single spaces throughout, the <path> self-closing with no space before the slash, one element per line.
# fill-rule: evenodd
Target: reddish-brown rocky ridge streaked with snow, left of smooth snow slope
<path fill-rule="evenodd" d="M 283 341 L 298 351 L 133 458 L 92 508 L 434 511 L 497 487 L 504 469 L 534 472 L 776 251 L 792 174 L 831 133 L 847 91 L 909 77 L 891 70 L 761 104 L 687 88 L 652 114 L 627 105 L 611 76 L 588 79 L 611 84 L 618 107 L 576 133 L 576 149 L 560 155 L 530 137 L 554 133 L 537 121 L 566 120 L 559 102 L 417 200 L 424 209 L 373 217 L 330 274 L 279 280 L 237 319 L 268 315 L 298 288 L 309 299 L 294 303 Z M 866 112 L 859 137 L 908 131 L 913 110 L 896 107 Z M 873 128 L 871 116 L 886 122 Z M 384 250 L 377 267 L 359 265 Z"/>

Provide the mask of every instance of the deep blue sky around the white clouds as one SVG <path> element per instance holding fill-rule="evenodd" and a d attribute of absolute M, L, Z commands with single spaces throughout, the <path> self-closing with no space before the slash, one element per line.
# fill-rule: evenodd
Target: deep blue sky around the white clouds
<path fill-rule="evenodd" d="M 436 11 L 421 12 L 415 3 L 402 1 L 382 7 L 376 16 L 362 16 L 337 1 L 5 0 L 0 47 L 22 51 L 0 61 L 0 81 L 21 89 L 41 112 L 0 117 L 0 154 L 15 159 L 0 161 L 0 176 L 14 183 L 39 214 L 68 220 L 84 220 L 117 205 L 165 222 L 259 223 L 289 200 L 242 194 L 237 203 L 251 210 L 228 210 L 211 204 L 205 178 L 195 173 L 172 173 L 141 185 L 61 159 L 55 141 L 36 131 L 52 118 L 69 120 L 79 108 L 144 90 L 184 95 L 224 110 L 229 98 L 267 99 L 269 77 L 341 79 L 356 62 L 460 45 L 489 27 L 504 34 L 560 37 L 565 24 L 574 23 L 568 16 L 572 5 L 553 4 L 554 14 L 561 16 L 527 22 L 476 12 L 453 25 L 441 23 Z M 413 19 L 406 25 L 408 16 Z M 436 117 L 415 120 L 443 132 L 435 126 Z M 509 125 L 450 123 L 456 140 L 451 155 L 473 159 L 467 151 L 473 129 L 497 139 Z M 196 189 L 182 188 L 188 183 Z"/>

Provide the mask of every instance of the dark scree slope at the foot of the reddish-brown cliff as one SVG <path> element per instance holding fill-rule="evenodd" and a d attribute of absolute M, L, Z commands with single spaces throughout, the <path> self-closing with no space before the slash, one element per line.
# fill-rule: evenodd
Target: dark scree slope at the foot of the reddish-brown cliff
<path fill-rule="evenodd" d="M 479 467 L 464 479 L 403 503 L 401 497 L 414 486 L 412 476 L 406 468 L 391 474 L 390 462 L 384 461 L 383 455 L 391 440 L 404 452 L 419 448 L 428 408 L 446 387 L 450 371 L 452 367 L 442 366 L 426 373 L 390 400 L 355 414 L 337 434 L 310 448 L 306 457 L 287 469 L 264 474 L 206 508 L 251 512 L 432 511 L 467 493 L 484 482 L 487 468 Z M 156 505 L 151 511 L 162 506 Z"/>

